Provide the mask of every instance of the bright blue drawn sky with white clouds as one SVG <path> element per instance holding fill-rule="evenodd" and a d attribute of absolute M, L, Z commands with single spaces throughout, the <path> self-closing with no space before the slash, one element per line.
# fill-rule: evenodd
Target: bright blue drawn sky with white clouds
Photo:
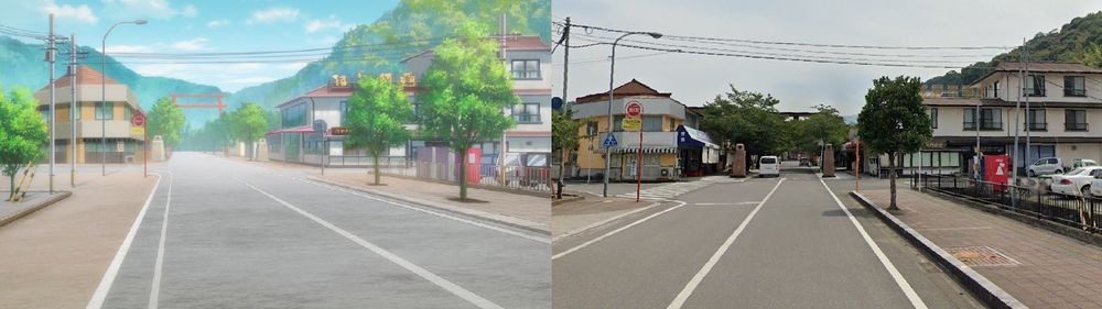
<path fill-rule="evenodd" d="M 356 24 L 369 24 L 398 0 L 360 1 L 206 1 L 206 0 L 3 0 L 0 24 L 48 30 L 55 16 L 60 35 L 76 34 L 79 45 L 100 49 L 104 33 L 116 22 L 148 20 L 145 25 L 116 27 L 108 55 L 130 53 L 226 53 L 331 47 Z M 293 75 L 306 63 L 280 64 L 138 64 L 120 59 L 145 76 L 174 77 L 223 91 Z"/>

